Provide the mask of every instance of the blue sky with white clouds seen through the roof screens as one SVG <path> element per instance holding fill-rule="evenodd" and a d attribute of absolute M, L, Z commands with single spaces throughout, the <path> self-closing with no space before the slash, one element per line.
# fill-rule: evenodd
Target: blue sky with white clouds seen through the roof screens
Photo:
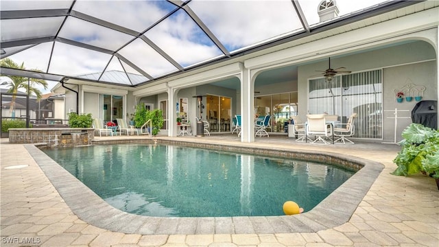
<path fill-rule="evenodd" d="M 300 0 L 300 6 L 309 25 L 318 23 L 318 5 L 321 0 Z M 383 0 L 337 0 L 339 16 L 368 8 L 382 3 Z M 2 0 L 2 10 L 26 10 L 32 8 L 66 8 L 71 0 L 65 1 L 9 1 Z M 103 6 L 102 3 L 105 3 Z M 193 0 L 189 7 L 197 14 L 209 30 L 224 44 L 231 53 L 245 49 L 250 45 L 292 34 L 301 28 L 300 22 L 290 0 Z M 135 32 L 143 32 L 145 27 L 155 23 L 173 10 L 174 6 L 165 1 L 77 1 L 73 10 L 95 16 L 105 21 L 128 27 Z M 119 18 L 121 12 L 130 12 Z M 147 13 L 147 14 L 145 14 Z M 258 18 L 255 18 L 258 16 Z M 14 37 L 26 35 L 25 38 L 50 36 L 56 33 L 63 18 L 40 18 L 20 20 L 21 28 L 8 25 L 9 20 L 1 21 L 2 41 L 8 40 L 8 34 Z M 46 27 L 41 29 L 40 27 Z M 59 33 L 61 38 L 75 40 L 87 45 L 93 45 L 117 51 L 137 67 L 153 78 L 177 71 L 178 68 L 143 40 L 134 40 L 122 47 L 133 36 L 69 17 Z M 204 34 L 198 25 L 184 11 L 178 10 L 165 21 L 145 32 L 145 36 L 165 51 L 181 67 L 205 62 L 224 56 L 222 51 Z M 49 54 L 53 49 L 51 65 L 48 68 Z M 103 54 L 88 49 L 67 45 L 65 43 L 43 43 L 29 48 L 19 54 L 10 56 L 17 63 L 25 62 L 27 69 L 40 69 L 60 75 L 85 75 L 107 70 L 126 71 L 140 74 L 128 64 L 112 59 L 109 54 Z M 1 78 L 1 82 L 5 78 Z M 56 82 L 48 82 L 49 88 L 43 93 L 49 93 Z M 126 82 L 128 84 L 128 79 Z M 0 86 L 4 88 L 4 86 Z"/>

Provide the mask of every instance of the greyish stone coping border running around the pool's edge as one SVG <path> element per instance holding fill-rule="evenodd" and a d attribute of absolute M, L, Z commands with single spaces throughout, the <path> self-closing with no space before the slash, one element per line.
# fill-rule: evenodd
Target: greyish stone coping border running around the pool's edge
<path fill-rule="evenodd" d="M 139 142 L 139 141 L 138 141 Z M 151 139 L 144 139 L 140 141 L 141 143 L 151 143 Z M 65 169 L 60 167 L 58 163 L 52 161 L 47 155 L 45 155 L 41 150 L 36 148 L 35 145 L 27 144 L 25 148 L 34 158 L 36 163 L 40 165 L 43 172 L 51 180 L 51 183 L 56 187 L 60 195 L 64 198 L 65 202 L 71 207 L 73 213 L 78 215 L 84 222 L 92 223 L 94 226 L 107 228 L 111 225 L 112 231 L 121 231 L 123 233 L 134 233 L 143 235 L 157 235 L 157 234 L 187 234 L 188 231 L 194 231 L 191 234 L 238 234 L 244 233 L 244 227 L 246 228 L 246 233 L 312 233 L 316 231 L 323 230 L 325 228 L 332 228 L 339 226 L 344 222 L 347 222 L 355 209 L 357 208 L 359 202 L 364 198 L 368 189 L 375 181 L 375 178 L 379 176 L 383 165 L 374 161 L 364 160 L 362 158 L 353 158 L 352 156 L 344 156 L 342 154 L 332 154 L 324 152 L 311 152 L 300 150 L 300 152 L 295 152 L 294 150 L 279 150 L 270 148 L 254 148 L 254 147 L 240 147 L 239 145 L 217 145 L 209 143 L 193 143 L 185 141 L 169 141 L 158 139 L 158 143 L 166 144 L 181 144 L 193 146 L 195 148 L 207 148 L 215 149 L 221 148 L 223 151 L 231 152 L 248 152 L 250 154 L 262 154 L 268 156 L 286 156 L 287 158 L 307 158 L 313 161 L 324 161 L 327 163 L 341 163 L 343 166 L 351 167 L 352 169 L 359 169 L 359 172 L 354 174 L 350 179 L 348 179 L 342 186 L 336 189 L 331 195 L 324 199 L 324 203 L 318 204 L 314 209 L 309 212 L 302 213 L 302 215 L 294 216 L 271 216 L 270 220 L 265 218 L 265 220 L 258 220 L 257 218 L 252 219 L 256 222 L 257 229 L 252 226 L 252 220 L 248 220 L 249 224 L 243 224 L 243 227 L 239 227 L 242 222 L 235 222 L 233 218 L 235 217 L 200 217 L 198 220 L 193 221 L 195 226 L 189 226 L 188 222 L 179 220 L 178 218 L 168 218 L 168 217 L 148 217 L 143 215 L 132 215 L 126 213 L 127 217 L 121 217 L 117 215 L 119 210 L 114 210 L 109 204 L 106 204 L 104 200 L 99 198 L 93 191 L 88 189 L 83 185 L 78 179 L 73 175 L 69 174 Z M 365 176 L 367 175 L 367 176 Z M 68 182 L 67 182 L 68 181 Z M 361 183 L 359 183 L 361 181 Z M 357 185 L 357 182 L 359 185 Z M 74 193 L 72 189 L 80 189 L 80 196 L 78 198 L 78 193 Z M 348 188 L 348 189 L 347 189 Z M 353 207 L 349 207 L 348 210 L 331 210 L 324 209 L 327 204 L 331 202 L 337 202 L 340 196 L 337 196 L 337 191 L 346 192 L 351 189 L 359 188 L 355 193 L 349 193 L 349 201 L 352 203 Z M 78 200 L 79 199 L 79 200 Z M 72 207 L 73 206 L 73 207 Z M 112 210 L 111 210 L 112 209 Z M 114 212 L 115 215 L 110 216 L 108 211 Z M 106 212 L 106 213 L 104 213 Z M 325 213 L 331 213 L 331 215 L 325 216 Z M 99 216 L 100 215 L 100 216 Z M 115 217 L 117 215 L 117 223 L 112 225 L 113 222 L 108 223 L 109 217 Z M 129 215 L 129 217 L 128 217 Z M 249 217 L 250 218 L 250 217 Z M 275 219 L 275 220 L 274 220 Z M 278 222 L 281 220 L 285 222 L 282 227 L 273 227 L 270 222 Z M 318 223 L 319 220 L 323 220 L 324 224 Z M 332 220 L 332 221 L 331 221 Z M 136 226 L 139 227 L 123 227 L 129 226 L 130 222 L 136 222 Z M 144 224 L 141 224 L 144 222 Z M 180 226 L 180 222 L 182 225 Z M 264 226 L 264 224 L 266 224 Z M 244 226 L 245 225 L 245 226 Z M 188 230 L 188 227 L 190 230 Z M 194 230 L 195 229 L 195 230 Z M 241 229 L 241 230 L 239 230 Z M 212 232 L 213 231 L 213 232 Z"/>

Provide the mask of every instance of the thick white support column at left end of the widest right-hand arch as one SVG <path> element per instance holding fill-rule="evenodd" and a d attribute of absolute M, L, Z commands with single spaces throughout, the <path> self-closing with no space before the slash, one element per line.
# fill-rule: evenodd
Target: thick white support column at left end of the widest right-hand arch
<path fill-rule="evenodd" d="M 241 76 L 241 142 L 254 142 L 254 82 L 250 69 Z"/>

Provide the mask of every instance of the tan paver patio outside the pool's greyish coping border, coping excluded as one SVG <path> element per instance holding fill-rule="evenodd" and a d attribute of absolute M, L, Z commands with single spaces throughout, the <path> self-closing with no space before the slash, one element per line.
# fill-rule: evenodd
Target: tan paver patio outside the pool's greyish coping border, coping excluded
<path fill-rule="evenodd" d="M 101 139 L 115 138 L 127 137 Z M 239 143 L 236 135 L 176 139 Z M 257 138 L 255 143 L 241 145 L 341 152 L 340 145 L 295 143 L 294 139 L 272 136 Z M 8 139 L 1 139 L 0 245 L 439 246 L 439 190 L 434 179 L 422 174 L 409 177 L 391 175 L 390 172 L 396 167 L 392 159 L 399 150 L 396 145 L 361 143 L 342 147 L 344 155 L 367 158 L 384 165 L 375 183 L 344 224 L 309 233 L 141 235 L 108 231 L 80 220 L 64 202 L 25 145 L 10 144 Z"/>

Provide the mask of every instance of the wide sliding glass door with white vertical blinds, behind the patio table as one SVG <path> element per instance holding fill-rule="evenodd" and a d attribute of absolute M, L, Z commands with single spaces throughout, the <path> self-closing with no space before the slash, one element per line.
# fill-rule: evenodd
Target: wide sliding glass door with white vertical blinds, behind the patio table
<path fill-rule="evenodd" d="M 381 103 L 381 70 L 309 80 L 309 113 L 338 115 L 344 124 L 357 113 L 354 137 L 382 138 Z"/>

